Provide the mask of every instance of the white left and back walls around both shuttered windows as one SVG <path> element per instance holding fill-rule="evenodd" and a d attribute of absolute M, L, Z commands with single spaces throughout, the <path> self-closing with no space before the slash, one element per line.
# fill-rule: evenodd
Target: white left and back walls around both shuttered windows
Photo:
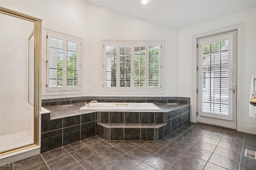
<path fill-rule="evenodd" d="M 46 54 L 43 47 L 42 99 L 74 96 L 114 96 L 101 94 L 101 40 L 165 40 L 165 94 L 178 95 L 178 30 L 122 15 L 85 1 L 1 1 L 1 6 L 42 19 L 42 27 L 83 38 L 81 93 L 46 95 Z M 44 43 L 44 42 L 43 42 Z M 122 95 L 117 95 L 122 96 Z M 136 94 L 123 94 L 136 96 Z M 143 94 L 140 96 L 160 96 Z"/>

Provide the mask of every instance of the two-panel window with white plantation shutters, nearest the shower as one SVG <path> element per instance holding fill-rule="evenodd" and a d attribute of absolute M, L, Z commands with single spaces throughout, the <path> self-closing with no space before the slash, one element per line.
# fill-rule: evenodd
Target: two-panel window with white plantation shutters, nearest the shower
<path fill-rule="evenodd" d="M 46 38 L 47 90 L 79 90 L 80 39 L 60 33 Z"/>

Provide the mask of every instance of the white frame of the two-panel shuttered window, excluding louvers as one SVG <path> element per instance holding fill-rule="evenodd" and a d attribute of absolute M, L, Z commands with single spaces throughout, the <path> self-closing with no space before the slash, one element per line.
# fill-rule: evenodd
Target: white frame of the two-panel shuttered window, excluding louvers
<path fill-rule="evenodd" d="M 81 56 L 81 42 L 82 39 L 79 37 L 75 37 L 72 35 L 67 35 L 64 33 L 59 33 L 55 31 L 51 31 L 48 29 L 44 29 L 44 35 L 46 38 L 46 92 L 73 92 L 80 90 L 80 56 Z M 64 40 L 63 44 L 63 86 L 62 87 L 49 87 L 49 70 L 50 70 L 50 55 L 49 55 L 49 37 L 56 37 Z M 72 41 L 79 45 L 78 50 L 78 86 L 76 87 L 68 87 L 67 86 L 67 42 Z"/>

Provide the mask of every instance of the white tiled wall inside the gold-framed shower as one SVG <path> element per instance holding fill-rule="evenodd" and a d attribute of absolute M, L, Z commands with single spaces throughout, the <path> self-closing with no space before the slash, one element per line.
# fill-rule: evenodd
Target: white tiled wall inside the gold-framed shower
<path fill-rule="evenodd" d="M 1 34 L 0 135 L 28 131 L 28 40 Z"/>

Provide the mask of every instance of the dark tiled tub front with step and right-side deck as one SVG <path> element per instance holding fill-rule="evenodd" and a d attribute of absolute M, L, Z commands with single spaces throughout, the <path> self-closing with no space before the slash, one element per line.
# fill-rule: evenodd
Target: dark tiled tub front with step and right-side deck
<path fill-rule="evenodd" d="M 190 121 L 189 104 L 156 104 L 162 111 L 98 112 L 97 135 L 106 140 L 158 141 Z"/>

